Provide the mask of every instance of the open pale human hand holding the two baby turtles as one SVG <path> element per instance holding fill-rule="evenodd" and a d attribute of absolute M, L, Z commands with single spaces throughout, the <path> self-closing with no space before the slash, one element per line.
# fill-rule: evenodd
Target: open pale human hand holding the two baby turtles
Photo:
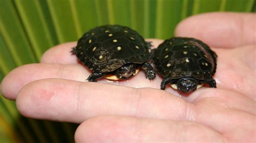
<path fill-rule="evenodd" d="M 217 89 L 180 97 L 142 70 L 127 81 L 84 82 L 91 71 L 70 55 L 76 42 L 69 42 L 12 70 L 1 91 L 26 117 L 81 123 L 76 142 L 255 142 L 255 16 L 207 13 L 177 26 L 176 36 L 203 40 L 217 53 Z"/>

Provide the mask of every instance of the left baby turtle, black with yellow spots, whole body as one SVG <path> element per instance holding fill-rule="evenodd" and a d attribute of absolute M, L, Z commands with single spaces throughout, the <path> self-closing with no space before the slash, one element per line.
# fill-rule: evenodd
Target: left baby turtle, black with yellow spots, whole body
<path fill-rule="evenodd" d="M 141 67 L 146 78 L 156 77 L 150 58 L 149 44 L 138 32 L 126 26 L 103 25 L 86 32 L 71 51 L 93 73 L 88 81 L 100 77 L 127 79 Z"/>

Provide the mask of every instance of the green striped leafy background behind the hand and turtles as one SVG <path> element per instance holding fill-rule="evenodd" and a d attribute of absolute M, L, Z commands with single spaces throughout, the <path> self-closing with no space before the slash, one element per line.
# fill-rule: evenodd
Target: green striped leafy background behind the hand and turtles
<path fill-rule="evenodd" d="M 98 25 L 120 24 L 144 38 L 172 37 L 180 20 L 211 11 L 254 12 L 254 0 L 0 0 L 0 81 L 38 62 L 50 47 Z M 22 117 L 0 95 L 0 142 L 73 142 L 77 125 Z"/>

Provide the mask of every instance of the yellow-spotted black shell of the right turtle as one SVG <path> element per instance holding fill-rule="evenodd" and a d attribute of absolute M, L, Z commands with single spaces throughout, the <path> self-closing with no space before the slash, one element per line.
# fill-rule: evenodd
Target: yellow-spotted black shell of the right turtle
<path fill-rule="evenodd" d="M 194 38 L 165 40 L 154 51 L 153 60 L 161 76 L 173 79 L 187 76 L 205 80 L 214 75 L 217 66 L 215 52 Z"/>

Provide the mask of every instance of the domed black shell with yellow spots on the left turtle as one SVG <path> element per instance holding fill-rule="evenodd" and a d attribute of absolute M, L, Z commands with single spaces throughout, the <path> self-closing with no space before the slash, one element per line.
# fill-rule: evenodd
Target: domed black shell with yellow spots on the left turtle
<path fill-rule="evenodd" d="M 93 72 L 107 73 L 126 63 L 143 63 L 149 48 L 142 36 L 126 26 L 104 25 L 86 32 L 73 48 L 77 58 Z"/>

